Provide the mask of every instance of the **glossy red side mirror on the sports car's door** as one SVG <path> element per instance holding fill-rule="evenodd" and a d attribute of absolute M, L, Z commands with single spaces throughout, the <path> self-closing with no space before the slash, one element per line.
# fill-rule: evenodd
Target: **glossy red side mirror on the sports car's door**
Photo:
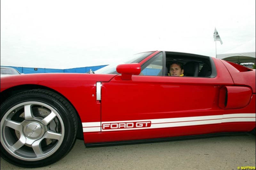
<path fill-rule="evenodd" d="M 119 64 L 116 67 L 116 71 L 122 74 L 123 80 L 131 80 L 132 75 L 140 74 L 140 64 L 139 63 L 131 63 L 131 64 Z"/>

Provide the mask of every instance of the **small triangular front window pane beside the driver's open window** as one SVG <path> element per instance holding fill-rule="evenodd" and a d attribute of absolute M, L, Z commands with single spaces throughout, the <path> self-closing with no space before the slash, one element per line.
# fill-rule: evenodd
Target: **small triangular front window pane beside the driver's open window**
<path fill-rule="evenodd" d="M 150 59 L 146 64 L 146 67 L 143 66 L 140 75 L 145 76 L 162 76 L 163 75 L 163 53 L 159 53 Z"/>

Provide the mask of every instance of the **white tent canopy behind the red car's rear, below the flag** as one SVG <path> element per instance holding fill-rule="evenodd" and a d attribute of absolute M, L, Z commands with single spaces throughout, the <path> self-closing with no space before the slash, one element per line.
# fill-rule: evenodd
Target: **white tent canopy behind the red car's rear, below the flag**
<path fill-rule="evenodd" d="M 255 63 L 255 38 L 251 41 L 226 51 L 225 54 L 217 54 L 217 58 L 227 60 L 233 63 Z"/>

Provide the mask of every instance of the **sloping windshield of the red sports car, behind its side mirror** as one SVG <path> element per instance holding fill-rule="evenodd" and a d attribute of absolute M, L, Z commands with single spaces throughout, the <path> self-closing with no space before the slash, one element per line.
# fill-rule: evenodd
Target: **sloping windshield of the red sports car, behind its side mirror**
<path fill-rule="evenodd" d="M 117 65 L 128 64 L 128 63 L 139 63 L 144 58 L 146 58 L 148 55 L 152 54 L 153 52 L 154 51 L 135 54 L 135 55 L 133 55 L 132 59 L 129 59 L 128 61 L 109 64 L 106 67 L 103 67 L 99 70 L 94 71 L 94 73 L 96 73 L 96 74 L 118 74 L 116 72 Z"/>

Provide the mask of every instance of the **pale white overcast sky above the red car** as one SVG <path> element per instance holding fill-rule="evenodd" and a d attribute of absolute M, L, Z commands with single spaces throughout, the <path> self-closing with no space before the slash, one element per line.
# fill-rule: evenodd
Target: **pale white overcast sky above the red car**
<path fill-rule="evenodd" d="M 1 65 L 68 69 L 154 50 L 215 56 L 214 28 L 225 53 L 255 38 L 255 15 L 255 0 L 1 0 Z"/>

